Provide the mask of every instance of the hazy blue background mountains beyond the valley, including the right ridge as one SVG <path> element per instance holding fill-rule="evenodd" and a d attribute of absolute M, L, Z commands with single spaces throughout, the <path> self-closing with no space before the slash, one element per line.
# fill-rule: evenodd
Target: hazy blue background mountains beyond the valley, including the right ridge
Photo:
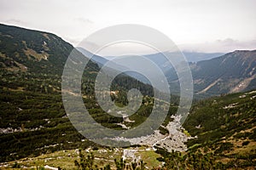
<path fill-rule="evenodd" d="M 84 48 L 80 48 L 80 50 L 84 54 L 90 53 Z M 150 54 L 144 57 L 150 59 L 160 67 L 161 71 L 165 73 L 169 80 L 172 92 L 178 94 L 179 84 L 176 71 L 163 54 Z M 187 56 L 187 59 L 189 59 L 189 56 L 192 56 L 191 59 L 193 60 L 196 59 L 194 57 L 196 54 L 198 53 L 185 53 L 184 55 Z M 198 55 L 200 57 L 197 58 L 197 62 L 189 62 L 194 80 L 195 97 L 201 98 L 211 95 L 237 93 L 256 88 L 256 50 L 236 50 L 228 54 L 220 54 L 218 57 L 216 57 L 218 54 Z M 99 55 L 93 56 L 94 58 L 92 60 L 98 65 L 104 65 L 109 61 Z M 202 56 L 206 56 L 206 58 L 202 58 Z M 212 59 L 207 59 L 207 56 Z M 133 58 L 136 60 L 136 56 Z M 116 65 L 115 68 L 119 69 L 122 66 L 127 67 L 126 65 Z M 137 75 L 128 75 L 142 82 L 146 82 L 142 77 Z"/>

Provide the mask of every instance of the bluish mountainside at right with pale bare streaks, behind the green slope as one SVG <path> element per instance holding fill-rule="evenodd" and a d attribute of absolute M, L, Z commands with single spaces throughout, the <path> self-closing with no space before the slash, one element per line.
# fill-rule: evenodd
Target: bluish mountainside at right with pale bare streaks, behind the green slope
<path fill-rule="evenodd" d="M 191 68 L 197 94 L 227 94 L 256 88 L 256 50 L 224 54 Z"/>

